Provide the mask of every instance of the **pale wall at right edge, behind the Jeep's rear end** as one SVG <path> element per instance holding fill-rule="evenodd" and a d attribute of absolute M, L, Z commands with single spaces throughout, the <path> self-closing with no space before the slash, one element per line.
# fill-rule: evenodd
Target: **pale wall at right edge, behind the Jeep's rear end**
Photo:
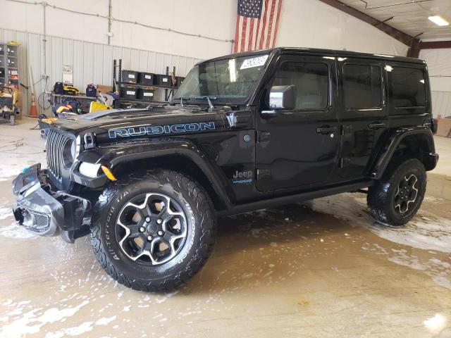
<path fill-rule="evenodd" d="M 451 49 L 421 49 L 428 64 L 433 115 L 451 116 Z"/>

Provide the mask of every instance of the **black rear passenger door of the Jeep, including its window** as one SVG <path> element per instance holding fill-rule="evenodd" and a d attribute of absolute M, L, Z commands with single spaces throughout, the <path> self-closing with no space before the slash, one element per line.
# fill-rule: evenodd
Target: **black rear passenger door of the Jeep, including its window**
<path fill-rule="evenodd" d="M 387 129 L 385 63 L 338 58 L 340 161 L 342 179 L 363 177 L 381 135 Z"/>

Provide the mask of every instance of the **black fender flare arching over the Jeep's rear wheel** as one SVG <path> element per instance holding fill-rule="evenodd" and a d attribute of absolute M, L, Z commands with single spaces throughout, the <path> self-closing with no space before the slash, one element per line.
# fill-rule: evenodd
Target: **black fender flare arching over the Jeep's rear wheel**
<path fill-rule="evenodd" d="M 385 143 L 388 145 L 379 151 L 377 155 L 378 158 L 370 170 L 370 175 L 373 180 L 380 180 L 382 178 L 388 163 L 390 163 L 393 158 L 393 154 L 395 154 L 397 146 L 400 145 L 404 138 L 414 134 L 422 134 L 426 136 L 429 151 L 428 156 L 431 156 L 431 162 L 433 163 L 430 168 L 426 169 L 432 170 L 435 168 L 435 164 L 438 161 L 438 154 L 435 154 L 435 145 L 431 129 L 426 126 L 401 127 L 397 130 L 393 130 L 393 132 L 389 134 L 388 140 Z"/>

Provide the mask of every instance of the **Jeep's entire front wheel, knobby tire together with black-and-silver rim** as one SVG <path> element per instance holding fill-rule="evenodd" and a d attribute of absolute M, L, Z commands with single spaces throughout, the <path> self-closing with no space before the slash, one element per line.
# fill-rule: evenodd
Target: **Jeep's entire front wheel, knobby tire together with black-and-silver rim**
<path fill-rule="evenodd" d="M 209 196 L 189 177 L 155 170 L 113 182 L 94 207 L 94 255 L 126 287 L 168 291 L 211 253 L 216 219 Z"/>

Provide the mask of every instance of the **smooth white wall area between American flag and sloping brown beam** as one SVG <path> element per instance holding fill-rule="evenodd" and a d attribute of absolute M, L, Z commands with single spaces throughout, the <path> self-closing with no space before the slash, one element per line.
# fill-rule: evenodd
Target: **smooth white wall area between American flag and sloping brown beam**
<path fill-rule="evenodd" d="M 347 49 L 405 56 L 407 46 L 318 0 L 283 0 L 278 46 Z"/>

